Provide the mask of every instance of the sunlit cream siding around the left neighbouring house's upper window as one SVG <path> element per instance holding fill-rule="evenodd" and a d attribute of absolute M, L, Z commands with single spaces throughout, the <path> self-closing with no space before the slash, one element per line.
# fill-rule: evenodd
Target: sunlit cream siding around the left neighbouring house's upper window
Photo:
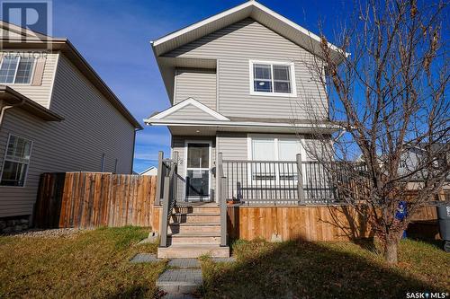
<path fill-rule="evenodd" d="M 24 49 L 23 52 L 30 50 Z M 33 51 L 34 52 L 34 51 Z M 2 54 L 4 52 L 1 52 Z M 14 53 L 14 52 L 7 52 Z M 36 52 L 37 53 L 37 52 Z M 53 76 L 58 62 L 58 53 L 42 53 L 45 59 L 44 73 L 42 75 L 42 83 L 39 86 L 32 86 L 31 84 L 3 84 L 10 86 L 16 92 L 21 92 L 32 101 L 36 101 L 45 108 L 49 108 L 50 93 L 53 83 Z M 34 57 L 39 57 L 35 54 Z"/>

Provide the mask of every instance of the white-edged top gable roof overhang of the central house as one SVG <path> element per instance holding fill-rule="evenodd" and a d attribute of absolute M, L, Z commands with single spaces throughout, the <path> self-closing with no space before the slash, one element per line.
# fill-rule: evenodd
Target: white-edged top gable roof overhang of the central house
<path fill-rule="evenodd" d="M 285 18 L 279 13 L 275 13 L 263 4 L 255 0 L 247 1 L 222 13 L 215 14 L 200 22 L 193 23 L 181 30 L 172 32 L 157 40 L 151 41 L 151 45 L 156 57 L 159 57 L 175 48 L 179 48 L 193 40 L 198 40 L 214 31 L 225 28 L 235 22 L 252 18 L 265 25 L 272 31 L 292 40 L 295 44 L 306 48 L 311 53 L 320 56 L 320 37 L 304 29 L 302 26 Z M 332 49 L 332 56 L 340 61 L 347 53 L 329 43 Z"/>

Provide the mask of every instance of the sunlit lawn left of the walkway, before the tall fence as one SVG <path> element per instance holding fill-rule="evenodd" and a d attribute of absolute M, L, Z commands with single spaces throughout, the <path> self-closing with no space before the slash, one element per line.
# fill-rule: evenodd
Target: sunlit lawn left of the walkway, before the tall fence
<path fill-rule="evenodd" d="M 131 264 L 148 234 L 138 227 L 100 228 L 71 237 L 0 237 L 0 298 L 117 298 L 156 294 L 166 268 Z"/>

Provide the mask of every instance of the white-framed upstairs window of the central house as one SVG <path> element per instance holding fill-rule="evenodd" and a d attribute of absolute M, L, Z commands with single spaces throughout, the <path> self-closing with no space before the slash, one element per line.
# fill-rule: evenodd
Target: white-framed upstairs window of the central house
<path fill-rule="evenodd" d="M 250 94 L 295 96 L 293 63 L 250 61 Z"/>

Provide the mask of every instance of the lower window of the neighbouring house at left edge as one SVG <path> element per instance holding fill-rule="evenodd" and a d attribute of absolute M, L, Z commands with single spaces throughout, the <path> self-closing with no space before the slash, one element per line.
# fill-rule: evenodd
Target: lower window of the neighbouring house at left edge
<path fill-rule="evenodd" d="M 0 185 L 23 187 L 30 165 L 32 142 L 23 137 L 10 135 L 4 154 Z"/>

